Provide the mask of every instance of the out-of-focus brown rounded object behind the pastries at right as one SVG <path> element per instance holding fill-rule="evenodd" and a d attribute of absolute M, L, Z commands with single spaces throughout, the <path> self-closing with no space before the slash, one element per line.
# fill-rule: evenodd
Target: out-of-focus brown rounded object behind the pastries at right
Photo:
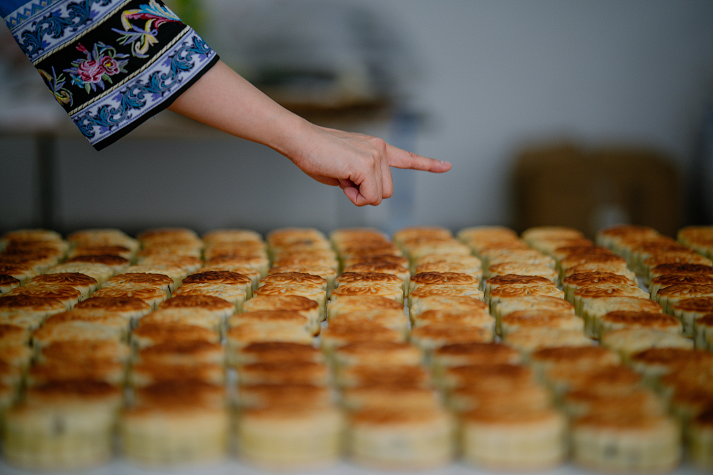
<path fill-rule="evenodd" d="M 530 147 L 515 160 L 515 227 L 572 226 L 593 237 L 630 223 L 675 236 L 683 224 L 681 176 L 670 157 L 646 147 Z"/>

